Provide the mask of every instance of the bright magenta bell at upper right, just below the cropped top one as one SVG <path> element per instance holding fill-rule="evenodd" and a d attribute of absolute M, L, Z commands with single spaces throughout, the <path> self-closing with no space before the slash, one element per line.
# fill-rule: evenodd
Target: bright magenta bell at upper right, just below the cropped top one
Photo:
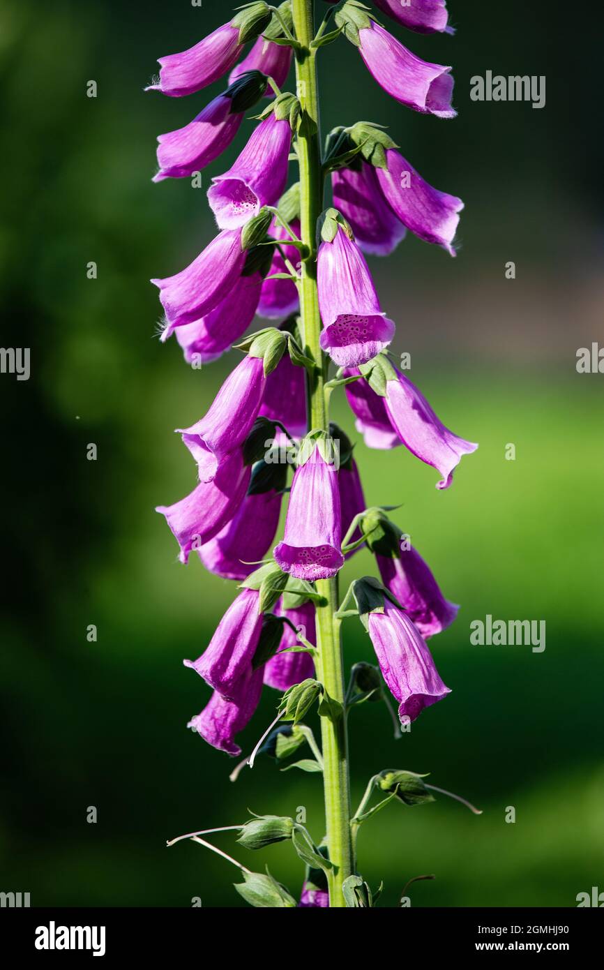
<path fill-rule="evenodd" d="M 377 23 L 360 30 L 359 39 L 369 73 L 401 105 L 441 118 L 455 117 L 450 67 L 416 57 Z"/>

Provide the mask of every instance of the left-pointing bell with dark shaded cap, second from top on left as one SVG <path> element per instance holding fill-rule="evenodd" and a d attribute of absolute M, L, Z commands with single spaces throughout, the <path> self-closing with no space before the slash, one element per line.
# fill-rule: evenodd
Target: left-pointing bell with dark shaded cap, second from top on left
<path fill-rule="evenodd" d="M 184 128 L 160 135 L 159 172 L 153 181 L 191 176 L 218 158 L 237 135 L 243 113 L 262 97 L 266 82 L 260 71 L 247 72 Z"/>

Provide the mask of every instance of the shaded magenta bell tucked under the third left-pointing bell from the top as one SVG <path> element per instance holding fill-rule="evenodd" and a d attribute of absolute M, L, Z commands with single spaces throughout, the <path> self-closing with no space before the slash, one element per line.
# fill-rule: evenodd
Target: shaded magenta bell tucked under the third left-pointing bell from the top
<path fill-rule="evenodd" d="M 262 283 L 263 278 L 259 273 L 239 276 L 224 300 L 206 316 L 195 323 L 176 327 L 176 339 L 184 351 L 187 364 L 195 361 L 208 364 L 243 336 L 254 319 Z M 164 334 L 161 339 L 166 339 Z"/>

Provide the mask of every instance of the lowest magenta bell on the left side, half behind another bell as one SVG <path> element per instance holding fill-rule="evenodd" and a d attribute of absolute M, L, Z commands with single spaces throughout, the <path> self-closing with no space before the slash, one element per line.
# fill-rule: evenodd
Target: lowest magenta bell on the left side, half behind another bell
<path fill-rule="evenodd" d="M 243 730 L 258 707 L 262 694 L 262 667 L 252 670 L 248 667 L 233 688 L 233 700 L 214 691 L 201 714 L 192 718 L 187 727 L 198 734 L 218 751 L 227 755 L 240 755 L 241 749 L 235 743 L 235 735 Z"/>

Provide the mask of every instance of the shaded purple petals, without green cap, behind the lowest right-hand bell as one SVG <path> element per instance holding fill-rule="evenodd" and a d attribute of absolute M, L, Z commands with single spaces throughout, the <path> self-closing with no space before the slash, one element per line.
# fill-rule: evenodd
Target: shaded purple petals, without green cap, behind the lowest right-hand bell
<path fill-rule="evenodd" d="M 398 557 L 376 553 L 375 560 L 384 586 L 404 606 L 424 639 L 453 623 L 460 607 L 443 597 L 419 552 L 401 549 Z"/>

